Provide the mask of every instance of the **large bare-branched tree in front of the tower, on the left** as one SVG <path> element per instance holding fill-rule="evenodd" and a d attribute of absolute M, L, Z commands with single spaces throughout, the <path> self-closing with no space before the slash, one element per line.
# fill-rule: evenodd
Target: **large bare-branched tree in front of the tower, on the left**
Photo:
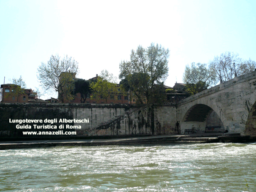
<path fill-rule="evenodd" d="M 78 62 L 72 57 L 51 56 L 47 63 L 38 68 L 38 79 L 45 91 L 55 90 L 61 102 L 73 98 L 73 81 L 79 73 Z"/>

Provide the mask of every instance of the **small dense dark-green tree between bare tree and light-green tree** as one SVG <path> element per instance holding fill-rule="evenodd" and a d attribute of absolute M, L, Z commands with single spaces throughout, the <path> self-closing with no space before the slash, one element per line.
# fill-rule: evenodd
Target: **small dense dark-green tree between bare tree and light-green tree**
<path fill-rule="evenodd" d="M 84 103 L 87 95 L 91 93 L 91 88 L 90 88 L 90 81 L 84 80 L 84 79 L 76 79 L 75 82 L 75 90 L 74 94 L 80 93 L 81 96 L 81 103 Z"/>

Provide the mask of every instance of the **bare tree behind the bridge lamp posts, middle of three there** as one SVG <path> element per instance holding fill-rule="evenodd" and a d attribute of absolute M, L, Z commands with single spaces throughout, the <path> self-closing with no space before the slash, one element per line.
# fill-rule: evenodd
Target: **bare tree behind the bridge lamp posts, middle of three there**
<path fill-rule="evenodd" d="M 235 67 L 241 64 L 241 58 L 238 55 L 238 53 L 225 52 L 214 57 L 210 62 L 210 68 L 215 71 L 218 80 L 228 81 L 235 77 Z M 236 74 L 241 74 L 239 68 L 236 68 Z"/>

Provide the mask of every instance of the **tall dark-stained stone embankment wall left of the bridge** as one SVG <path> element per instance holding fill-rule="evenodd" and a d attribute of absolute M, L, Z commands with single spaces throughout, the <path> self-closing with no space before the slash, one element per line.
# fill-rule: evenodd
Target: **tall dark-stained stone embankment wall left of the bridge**
<path fill-rule="evenodd" d="M 22 119 L 41 119 L 41 122 L 15 122 Z M 76 119 L 75 122 L 73 119 Z M 177 130 L 176 108 L 171 104 L 151 107 L 125 104 L 0 104 L 0 138 L 3 140 L 161 135 L 175 134 Z M 36 133 L 24 135 L 23 131 Z M 48 134 L 42 134 L 45 131 Z M 65 131 L 76 131 L 76 135 L 61 134 Z M 58 134 L 52 135 L 53 132 Z"/>

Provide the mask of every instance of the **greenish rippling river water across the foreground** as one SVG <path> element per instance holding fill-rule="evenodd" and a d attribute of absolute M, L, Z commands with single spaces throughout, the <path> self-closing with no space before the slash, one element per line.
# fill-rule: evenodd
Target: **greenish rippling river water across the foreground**
<path fill-rule="evenodd" d="M 3 150 L 0 191 L 255 192 L 256 143 Z"/>

